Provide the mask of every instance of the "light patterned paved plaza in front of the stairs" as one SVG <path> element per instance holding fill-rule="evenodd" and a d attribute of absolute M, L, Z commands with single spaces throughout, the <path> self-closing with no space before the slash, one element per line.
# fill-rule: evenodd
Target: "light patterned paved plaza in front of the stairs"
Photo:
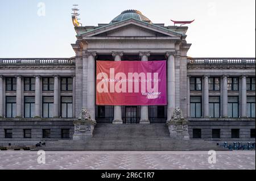
<path fill-rule="evenodd" d="M 46 151 L 46 164 L 37 151 L 0 151 L 0 169 L 172 170 L 255 169 L 255 151 L 217 151 L 216 164 L 208 151 Z"/>

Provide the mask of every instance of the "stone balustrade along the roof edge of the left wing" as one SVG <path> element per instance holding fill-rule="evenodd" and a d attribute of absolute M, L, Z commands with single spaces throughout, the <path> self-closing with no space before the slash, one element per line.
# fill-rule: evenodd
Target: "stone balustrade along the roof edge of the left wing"
<path fill-rule="evenodd" d="M 75 58 L 0 58 L 1 64 L 74 64 Z"/>

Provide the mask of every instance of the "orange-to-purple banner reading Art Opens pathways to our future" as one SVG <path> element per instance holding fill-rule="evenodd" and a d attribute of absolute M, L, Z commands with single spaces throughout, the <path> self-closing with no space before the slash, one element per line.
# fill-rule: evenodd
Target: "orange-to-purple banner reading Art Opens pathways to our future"
<path fill-rule="evenodd" d="M 166 105 L 166 90 L 166 61 L 97 61 L 97 105 Z"/>

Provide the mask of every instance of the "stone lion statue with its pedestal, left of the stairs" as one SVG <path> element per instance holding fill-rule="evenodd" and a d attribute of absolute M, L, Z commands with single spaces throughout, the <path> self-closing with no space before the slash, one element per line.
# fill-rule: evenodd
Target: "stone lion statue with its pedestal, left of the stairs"
<path fill-rule="evenodd" d="M 73 123 L 75 127 L 73 140 L 87 140 L 93 137 L 96 121 L 91 119 L 90 113 L 85 107 L 82 108 L 79 119 Z"/>

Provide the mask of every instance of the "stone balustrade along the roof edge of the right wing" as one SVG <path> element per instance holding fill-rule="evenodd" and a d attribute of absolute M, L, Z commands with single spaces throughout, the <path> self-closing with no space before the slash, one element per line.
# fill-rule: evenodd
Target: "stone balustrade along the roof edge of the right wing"
<path fill-rule="evenodd" d="M 255 64 L 255 58 L 188 58 L 188 64 Z"/>

